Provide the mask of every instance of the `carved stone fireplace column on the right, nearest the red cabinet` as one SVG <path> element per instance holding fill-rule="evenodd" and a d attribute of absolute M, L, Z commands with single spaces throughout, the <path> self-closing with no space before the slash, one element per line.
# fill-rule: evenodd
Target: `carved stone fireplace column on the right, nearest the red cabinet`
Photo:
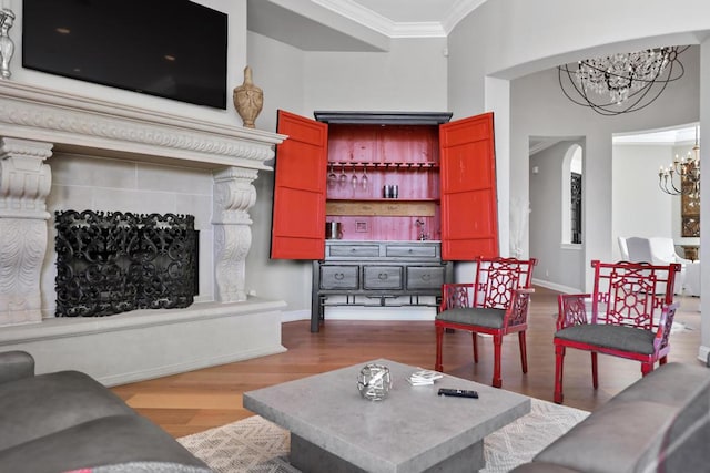
<path fill-rule="evenodd" d="M 246 300 L 245 264 L 252 246 L 248 209 L 256 203 L 255 169 L 229 167 L 214 173 L 212 228 L 216 300 Z"/>

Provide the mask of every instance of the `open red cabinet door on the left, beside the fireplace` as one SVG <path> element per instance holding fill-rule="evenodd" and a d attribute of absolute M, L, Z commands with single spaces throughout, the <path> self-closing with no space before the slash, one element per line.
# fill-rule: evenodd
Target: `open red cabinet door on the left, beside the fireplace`
<path fill-rule="evenodd" d="M 325 185 L 328 131 L 325 123 L 278 111 L 271 257 L 325 257 Z"/>

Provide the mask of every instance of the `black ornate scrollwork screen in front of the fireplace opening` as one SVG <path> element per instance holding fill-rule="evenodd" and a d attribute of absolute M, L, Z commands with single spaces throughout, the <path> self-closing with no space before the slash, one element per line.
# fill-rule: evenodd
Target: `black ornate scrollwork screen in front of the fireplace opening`
<path fill-rule="evenodd" d="M 55 217 L 57 317 L 193 302 L 194 216 L 65 210 Z"/>

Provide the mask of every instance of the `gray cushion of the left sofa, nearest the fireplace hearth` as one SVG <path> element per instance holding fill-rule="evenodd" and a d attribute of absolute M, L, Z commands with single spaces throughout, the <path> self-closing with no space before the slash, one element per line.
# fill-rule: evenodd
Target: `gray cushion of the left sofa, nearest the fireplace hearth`
<path fill-rule="evenodd" d="M 101 383 L 60 371 L 0 384 L 0 450 L 106 415 L 135 412 Z"/>

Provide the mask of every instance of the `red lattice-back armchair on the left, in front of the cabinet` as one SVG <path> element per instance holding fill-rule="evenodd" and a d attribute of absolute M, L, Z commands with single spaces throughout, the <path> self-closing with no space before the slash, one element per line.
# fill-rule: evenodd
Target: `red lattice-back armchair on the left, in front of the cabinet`
<path fill-rule="evenodd" d="M 436 327 L 436 366 L 442 367 L 442 345 L 445 329 L 467 330 L 474 342 L 474 362 L 478 362 L 477 333 L 493 336 L 493 385 L 500 388 L 500 348 L 503 337 L 518 333 L 523 372 L 528 372 L 525 330 L 528 328 L 528 304 L 535 258 L 477 258 L 473 284 L 445 284 L 442 304 L 434 322 Z"/>

